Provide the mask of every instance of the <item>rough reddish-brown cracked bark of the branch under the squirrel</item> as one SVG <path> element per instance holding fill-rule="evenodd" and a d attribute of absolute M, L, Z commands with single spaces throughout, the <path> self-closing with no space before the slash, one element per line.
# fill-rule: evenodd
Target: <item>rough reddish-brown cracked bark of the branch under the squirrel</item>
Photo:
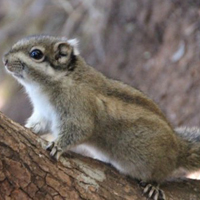
<path fill-rule="evenodd" d="M 76 154 L 54 161 L 41 138 L 0 113 L 0 199 L 145 200 L 134 180 Z M 167 199 L 200 199 L 200 181 L 167 181 Z"/>

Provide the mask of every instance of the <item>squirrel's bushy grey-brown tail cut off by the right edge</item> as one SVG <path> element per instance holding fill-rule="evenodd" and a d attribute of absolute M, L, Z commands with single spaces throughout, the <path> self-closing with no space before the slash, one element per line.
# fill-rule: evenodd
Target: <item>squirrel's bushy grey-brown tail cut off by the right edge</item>
<path fill-rule="evenodd" d="M 200 128 L 176 128 L 180 139 L 178 166 L 193 171 L 200 169 Z"/>

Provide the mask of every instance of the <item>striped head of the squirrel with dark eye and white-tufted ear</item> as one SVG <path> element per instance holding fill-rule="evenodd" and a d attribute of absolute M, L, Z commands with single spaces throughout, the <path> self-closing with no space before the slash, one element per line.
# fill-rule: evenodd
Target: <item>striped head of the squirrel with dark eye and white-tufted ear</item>
<path fill-rule="evenodd" d="M 77 45 L 76 39 L 29 36 L 14 44 L 3 62 L 6 70 L 22 84 L 42 77 L 60 78 L 73 70 L 79 54 Z"/>

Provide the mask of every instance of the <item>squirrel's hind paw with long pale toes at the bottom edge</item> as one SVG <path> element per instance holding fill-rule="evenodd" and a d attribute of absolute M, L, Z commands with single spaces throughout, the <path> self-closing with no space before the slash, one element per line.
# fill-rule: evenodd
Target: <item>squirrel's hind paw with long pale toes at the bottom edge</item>
<path fill-rule="evenodd" d="M 139 183 L 143 189 L 143 194 L 152 200 L 166 200 L 165 193 L 159 188 L 158 184 L 150 184 L 143 181 Z"/>

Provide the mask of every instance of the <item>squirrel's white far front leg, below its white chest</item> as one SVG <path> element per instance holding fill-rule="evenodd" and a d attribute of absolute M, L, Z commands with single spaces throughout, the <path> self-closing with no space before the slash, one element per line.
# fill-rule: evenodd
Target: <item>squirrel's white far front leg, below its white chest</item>
<path fill-rule="evenodd" d="M 39 113 L 34 112 L 27 120 L 25 127 L 31 129 L 34 133 L 42 135 L 48 131 L 48 122 Z"/>

